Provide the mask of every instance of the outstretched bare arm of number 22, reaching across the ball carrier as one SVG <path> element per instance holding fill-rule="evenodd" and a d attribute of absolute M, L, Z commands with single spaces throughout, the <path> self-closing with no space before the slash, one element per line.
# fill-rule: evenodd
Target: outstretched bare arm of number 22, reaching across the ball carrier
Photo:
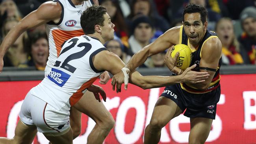
<path fill-rule="evenodd" d="M 95 55 L 93 65 L 97 70 L 107 70 L 111 74 L 115 75 L 123 68 L 124 63 L 112 52 L 102 51 Z M 207 72 L 192 72 L 192 68 L 194 67 L 191 67 L 190 69 L 188 68 L 184 74 L 180 76 L 141 76 L 139 72 L 135 71 L 130 74 L 129 82 L 143 89 L 149 89 L 187 81 L 198 83 L 208 78 L 209 75 Z M 113 90 L 115 90 L 115 87 L 117 92 L 121 92 L 121 85 L 117 84 L 113 86 Z"/>

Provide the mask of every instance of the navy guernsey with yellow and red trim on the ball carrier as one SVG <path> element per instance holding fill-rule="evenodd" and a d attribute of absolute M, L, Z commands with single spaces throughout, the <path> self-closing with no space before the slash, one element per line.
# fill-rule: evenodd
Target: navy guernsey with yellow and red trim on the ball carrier
<path fill-rule="evenodd" d="M 200 60 L 201 60 L 201 50 L 202 50 L 202 46 L 204 45 L 204 43 L 206 41 L 208 41 L 209 39 L 211 38 L 218 38 L 216 33 L 214 31 L 209 31 L 208 29 L 206 30 L 205 34 L 204 34 L 204 37 L 202 39 L 202 41 L 200 42 L 200 45 L 198 46 L 197 50 L 192 50 L 192 61 L 191 61 L 191 65 L 194 65 L 194 64 L 197 64 L 197 67 L 194 68 L 193 70 L 194 71 L 200 71 L 199 70 L 199 63 L 200 63 Z M 189 44 L 189 40 L 188 40 L 188 37 L 183 29 L 183 26 L 180 27 L 180 40 L 179 40 L 179 44 L 186 44 L 187 46 L 190 47 L 190 44 Z M 190 93 L 195 93 L 195 94 L 202 94 L 202 93 L 206 93 L 206 92 L 210 92 L 211 90 L 214 90 L 214 89 L 217 89 L 217 87 L 219 87 L 220 85 L 220 79 L 221 79 L 221 76 L 219 75 L 219 69 L 221 67 L 221 59 L 219 59 L 219 65 L 218 65 L 218 68 L 215 72 L 215 75 L 211 81 L 211 84 L 210 84 L 210 87 L 208 87 L 208 89 L 202 91 L 202 90 L 198 90 L 196 89 L 195 87 L 193 87 L 193 85 L 188 85 L 188 84 L 185 84 L 185 83 L 180 83 L 182 89 L 186 90 L 187 92 L 190 92 Z"/>

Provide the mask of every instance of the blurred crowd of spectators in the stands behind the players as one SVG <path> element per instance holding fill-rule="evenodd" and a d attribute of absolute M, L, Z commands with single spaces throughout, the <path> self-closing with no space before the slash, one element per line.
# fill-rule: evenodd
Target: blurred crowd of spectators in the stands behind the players
<path fill-rule="evenodd" d="M 0 42 L 8 31 L 45 0 L 0 0 Z M 256 0 L 99 0 L 115 24 L 115 38 L 104 44 L 127 63 L 133 54 L 174 26 L 182 25 L 188 3 L 208 10 L 208 29 L 222 42 L 223 65 L 256 65 Z M 49 55 L 45 26 L 24 32 L 9 48 L 4 67 L 44 70 Z M 165 67 L 165 52 L 141 67 Z"/>

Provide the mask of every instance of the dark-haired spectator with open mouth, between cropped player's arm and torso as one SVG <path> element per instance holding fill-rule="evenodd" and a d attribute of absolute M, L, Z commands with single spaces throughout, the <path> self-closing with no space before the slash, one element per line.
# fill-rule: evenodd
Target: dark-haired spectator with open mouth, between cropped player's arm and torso
<path fill-rule="evenodd" d="M 46 33 L 37 31 L 31 34 L 30 55 L 28 66 L 35 66 L 37 70 L 45 70 L 49 56 L 49 44 Z"/>

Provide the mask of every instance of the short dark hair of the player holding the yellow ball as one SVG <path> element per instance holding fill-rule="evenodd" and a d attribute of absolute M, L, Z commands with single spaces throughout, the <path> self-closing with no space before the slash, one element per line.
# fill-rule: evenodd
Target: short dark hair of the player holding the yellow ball
<path fill-rule="evenodd" d="M 207 18 L 207 10 L 199 5 L 199 4 L 188 4 L 183 13 L 182 13 L 182 20 L 184 21 L 184 15 L 186 13 L 200 13 L 200 16 L 201 16 L 201 21 L 202 23 L 204 24 L 204 22 L 206 22 L 206 18 Z"/>

